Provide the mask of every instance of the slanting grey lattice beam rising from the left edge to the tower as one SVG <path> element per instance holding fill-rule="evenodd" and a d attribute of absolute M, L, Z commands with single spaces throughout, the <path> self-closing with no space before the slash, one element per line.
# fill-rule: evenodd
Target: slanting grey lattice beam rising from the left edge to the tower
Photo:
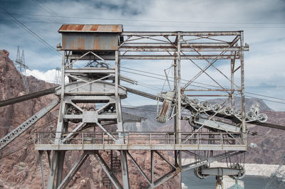
<path fill-rule="evenodd" d="M 53 100 L 51 104 L 48 104 L 48 106 L 38 111 L 32 117 L 24 121 L 23 124 L 17 126 L 16 129 L 14 129 L 9 134 L 7 134 L 2 139 L 0 139 L 0 150 L 4 148 L 5 146 L 7 146 L 11 141 L 14 141 L 14 139 L 16 139 L 20 134 L 26 131 L 26 129 L 28 129 L 30 126 L 35 124 L 36 121 L 41 119 L 44 115 L 46 115 L 49 111 L 51 111 L 51 109 L 56 107 L 57 104 L 58 104 L 58 99 Z"/>

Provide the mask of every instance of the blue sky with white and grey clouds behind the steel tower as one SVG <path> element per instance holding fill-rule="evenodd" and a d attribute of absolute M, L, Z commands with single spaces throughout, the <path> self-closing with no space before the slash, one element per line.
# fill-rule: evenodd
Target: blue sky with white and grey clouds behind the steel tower
<path fill-rule="evenodd" d="M 284 0 L 0 0 L 0 8 L 0 49 L 8 50 L 11 60 L 15 60 L 19 46 L 24 50 L 26 65 L 30 68 L 28 75 L 48 82 L 53 82 L 55 68 L 61 66 L 61 55 L 54 49 L 61 42 L 61 34 L 57 31 L 63 23 L 123 24 L 124 31 L 243 30 L 244 41 L 249 44 L 249 52 L 244 53 L 247 96 L 260 97 L 271 109 L 285 111 Z M 15 23 L 9 14 L 23 23 L 30 33 Z M 125 68 L 160 75 L 164 75 L 164 70 L 170 65 L 167 61 L 122 61 Z M 189 70 L 194 70 L 191 66 Z M 219 68 L 222 69 L 222 66 Z M 138 80 L 142 85 L 152 83 L 155 90 L 151 90 L 150 86 L 135 86 L 152 94 L 162 90 L 164 84 L 162 81 L 152 82 L 142 75 L 122 74 Z M 185 69 L 184 79 L 189 80 L 192 74 Z M 138 100 L 138 97 L 130 95 L 123 100 L 123 104 L 135 106 L 155 102 L 145 98 Z"/>

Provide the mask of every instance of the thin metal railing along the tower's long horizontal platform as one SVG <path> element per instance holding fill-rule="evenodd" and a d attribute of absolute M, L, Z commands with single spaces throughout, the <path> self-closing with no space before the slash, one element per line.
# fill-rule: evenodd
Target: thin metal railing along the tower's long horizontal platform
<path fill-rule="evenodd" d="M 71 132 L 62 134 L 61 144 L 115 144 L 122 139 L 124 144 L 152 145 L 177 144 L 178 133 L 175 132 L 73 132 L 73 136 L 66 138 Z M 110 137 L 113 136 L 112 137 Z M 54 144 L 56 132 L 35 132 L 34 144 Z M 241 133 L 227 132 L 182 132 L 180 145 L 242 145 Z"/>

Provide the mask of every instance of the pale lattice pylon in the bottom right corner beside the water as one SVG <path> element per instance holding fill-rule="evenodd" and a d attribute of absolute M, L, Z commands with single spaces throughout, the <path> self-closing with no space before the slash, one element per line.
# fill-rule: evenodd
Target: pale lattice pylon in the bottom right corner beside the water
<path fill-rule="evenodd" d="M 264 189 L 284 188 L 285 187 L 285 154 L 282 156 L 281 163 L 274 173 L 271 174 L 268 183 Z"/>

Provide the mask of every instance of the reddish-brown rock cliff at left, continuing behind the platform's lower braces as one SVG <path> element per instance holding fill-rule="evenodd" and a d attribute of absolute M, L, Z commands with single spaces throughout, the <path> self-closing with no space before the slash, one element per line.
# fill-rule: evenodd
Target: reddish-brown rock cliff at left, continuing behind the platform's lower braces
<path fill-rule="evenodd" d="M 9 99 L 24 95 L 27 91 L 34 92 L 52 87 L 53 84 L 35 77 L 28 77 L 28 89 L 25 88 L 23 78 L 14 67 L 13 62 L 9 59 L 9 53 L 6 50 L 0 50 L 0 100 Z M 26 102 L 12 104 L 7 107 L 0 107 L 0 137 L 5 136 L 9 131 L 19 126 L 23 121 L 31 117 L 38 110 L 46 107 L 56 96 L 48 95 L 36 99 L 30 99 Z M 43 188 L 41 183 L 41 167 L 39 164 L 38 151 L 33 149 L 33 133 L 36 131 L 50 131 L 55 129 L 51 127 L 56 125 L 58 115 L 58 107 L 52 112 L 46 114 L 40 121 L 31 129 L 25 131 L 18 139 L 13 141 L 9 146 L 6 146 L 3 151 L 0 151 L 0 188 Z M 81 152 L 66 152 L 64 169 L 71 169 L 73 164 L 80 157 Z M 145 174 L 150 176 L 150 154 L 147 151 L 131 151 L 130 152 L 139 165 L 142 166 Z M 162 152 L 163 153 L 163 152 Z M 164 153 L 167 156 L 167 153 Z M 107 152 L 101 152 L 101 156 L 107 162 L 109 156 Z M 146 157 L 146 158 L 142 158 Z M 156 155 L 155 155 L 156 156 Z M 169 156 L 167 158 L 170 159 Z M 165 166 L 165 163 L 159 158 L 155 158 L 155 177 L 157 178 L 165 171 L 170 171 L 170 167 Z M 48 158 L 46 153 L 43 153 L 43 166 L 46 181 L 48 179 Z M 130 185 L 132 188 L 142 188 L 146 186 L 146 181 L 140 175 L 140 172 L 135 165 L 128 159 L 128 167 L 130 169 Z M 120 179 L 120 175 L 118 178 Z M 102 184 L 104 171 L 95 160 L 94 156 L 90 156 L 83 166 L 80 168 L 76 176 L 68 185 L 69 188 L 105 188 Z M 180 184 L 180 178 L 175 177 L 169 180 L 160 188 L 176 188 Z"/>

